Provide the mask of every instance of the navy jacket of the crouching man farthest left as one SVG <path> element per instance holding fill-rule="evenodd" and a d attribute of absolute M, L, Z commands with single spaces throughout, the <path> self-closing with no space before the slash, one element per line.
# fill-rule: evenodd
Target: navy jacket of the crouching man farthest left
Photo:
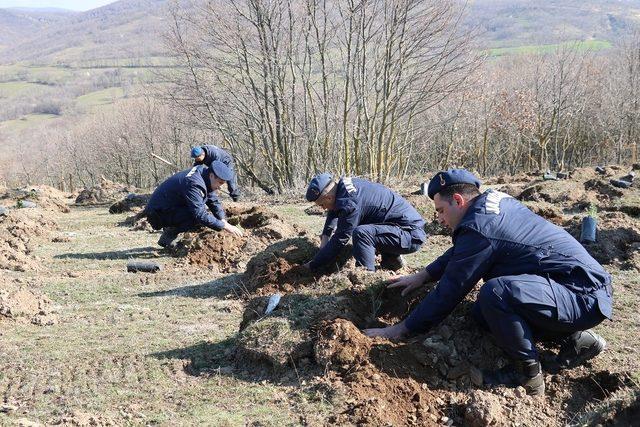
<path fill-rule="evenodd" d="M 172 211 L 186 209 L 194 224 L 222 230 L 224 209 L 216 193 L 210 191 L 209 168 L 200 165 L 176 173 L 164 181 L 151 195 L 147 210 Z M 209 212 L 209 209 L 213 215 Z"/>

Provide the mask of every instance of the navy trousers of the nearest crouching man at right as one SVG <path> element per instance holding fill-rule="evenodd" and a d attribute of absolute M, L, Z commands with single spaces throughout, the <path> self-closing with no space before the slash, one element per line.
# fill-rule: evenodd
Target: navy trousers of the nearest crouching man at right
<path fill-rule="evenodd" d="M 472 314 L 512 358 L 520 360 L 538 360 L 534 340 L 559 340 L 605 319 L 594 297 L 533 274 L 487 281 Z"/>

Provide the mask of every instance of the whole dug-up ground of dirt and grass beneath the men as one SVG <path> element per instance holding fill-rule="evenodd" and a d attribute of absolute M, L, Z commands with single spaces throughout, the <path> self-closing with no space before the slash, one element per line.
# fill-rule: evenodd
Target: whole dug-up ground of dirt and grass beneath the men
<path fill-rule="evenodd" d="M 248 237 L 203 230 L 173 254 L 159 250 L 157 233 L 118 225 L 128 213 L 109 214 L 104 204 L 65 213 L 56 194 L 56 203 L 11 209 L 0 217 L 0 237 L 14 242 L 3 248 L 11 262 L 0 281 L 0 424 L 633 424 L 640 418 L 640 189 L 608 183 L 625 173 L 489 181 L 576 236 L 595 203 L 599 240 L 588 249 L 615 278 L 615 319 L 597 328 L 607 351 L 547 374 L 547 394 L 538 398 L 470 384 L 469 366 L 506 362 L 466 316 L 474 295 L 428 334 L 402 342 L 362 335 L 361 328 L 401 319 L 428 289 L 401 298 L 384 289 L 389 273 L 363 272 L 346 258 L 341 271 L 322 277 L 300 270 L 323 222 L 305 213 L 308 204 L 227 202 Z M 430 218 L 428 199 L 407 196 Z M 13 206 L 10 197 L 0 200 Z M 405 272 L 449 246 L 442 230 L 430 231 Z M 131 259 L 163 268 L 127 273 Z M 276 292 L 280 304 L 265 316 Z"/>

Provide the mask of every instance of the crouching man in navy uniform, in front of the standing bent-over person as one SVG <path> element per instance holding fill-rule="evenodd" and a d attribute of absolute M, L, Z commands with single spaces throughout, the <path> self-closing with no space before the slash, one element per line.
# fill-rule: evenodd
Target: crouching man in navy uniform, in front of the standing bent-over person
<path fill-rule="evenodd" d="M 215 193 L 232 176 L 231 169 L 216 160 L 211 167 L 194 166 L 160 184 L 145 208 L 153 229 L 163 229 L 158 244 L 172 246 L 180 233 L 199 226 L 242 236 L 239 228 L 226 221 L 224 209 Z"/>

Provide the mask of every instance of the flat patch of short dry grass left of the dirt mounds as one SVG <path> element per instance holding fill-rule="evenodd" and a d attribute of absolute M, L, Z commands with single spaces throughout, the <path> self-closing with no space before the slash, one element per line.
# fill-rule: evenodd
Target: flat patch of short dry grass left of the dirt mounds
<path fill-rule="evenodd" d="M 50 327 L 2 324 L 0 396 L 26 417 L 53 423 L 76 412 L 117 424 L 297 424 L 329 408 L 295 377 L 261 382 L 229 374 L 230 338 L 243 307 L 237 275 L 173 266 L 155 250 L 157 234 L 116 227 L 122 215 L 74 209 L 62 215 L 71 242 L 44 242 L 45 273 L 27 273 L 58 306 Z M 165 265 L 155 275 L 126 273 L 129 258 Z M 69 277 L 75 272 L 79 277 Z M 226 357 L 226 359 L 225 359 Z"/>

